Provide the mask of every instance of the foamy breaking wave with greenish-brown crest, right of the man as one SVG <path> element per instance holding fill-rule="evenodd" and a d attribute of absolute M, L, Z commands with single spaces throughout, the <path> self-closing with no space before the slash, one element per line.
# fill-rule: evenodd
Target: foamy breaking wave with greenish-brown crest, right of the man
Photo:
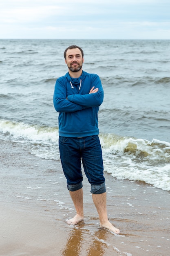
<path fill-rule="evenodd" d="M 119 180 L 141 181 L 170 191 L 170 143 L 100 135 L 104 171 Z"/>

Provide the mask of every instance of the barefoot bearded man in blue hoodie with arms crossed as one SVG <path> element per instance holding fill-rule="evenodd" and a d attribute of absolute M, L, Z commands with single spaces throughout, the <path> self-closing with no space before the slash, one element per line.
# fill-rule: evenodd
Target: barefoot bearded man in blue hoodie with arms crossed
<path fill-rule="evenodd" d="M 97 74 L 82 70 L 83 50 L 71 45 L 64 52 L 68 73 L 57 79 L 54 90 L 54 107 L 59 114 L 59 148 L 67 187 L 77 214 L 68 224 L 84 219 L 81 160 L 91 184 L 93 202 L 99 214 L 100 226 L 115 234 L 107 217 L 106 187 L 103 175 L 102 149 L 99 141 L 99 106 L 104 92 Z"/>

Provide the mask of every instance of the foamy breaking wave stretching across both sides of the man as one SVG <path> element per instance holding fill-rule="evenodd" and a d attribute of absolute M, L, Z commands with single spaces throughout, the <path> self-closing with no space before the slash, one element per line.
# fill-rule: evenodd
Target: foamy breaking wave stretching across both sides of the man
<path fill-rule="evenodd" d="M 30 153 L 60 160 L 58 128 L 0 120 L 0 138 L 29 144 Z M 170 190 L 170 143 L 135 139 L 116 134 L 99 135 L 104 171 L 120 180 L 142 181 Z"/>

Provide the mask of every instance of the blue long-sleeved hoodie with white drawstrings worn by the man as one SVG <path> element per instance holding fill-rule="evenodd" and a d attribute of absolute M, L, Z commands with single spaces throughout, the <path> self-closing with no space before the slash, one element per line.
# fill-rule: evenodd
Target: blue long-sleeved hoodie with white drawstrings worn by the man
<path fill-rule="evenodd" d="M 89 94 L 91 88 L 98 92 Z M 104 92 L 97 74 L 82 72 L 79 78 L 66 73 L 55 83 L 53 103 L 58 117 L 59 135 L 64 137 L 85 137 L 98 135 L 99 106 Z"/>

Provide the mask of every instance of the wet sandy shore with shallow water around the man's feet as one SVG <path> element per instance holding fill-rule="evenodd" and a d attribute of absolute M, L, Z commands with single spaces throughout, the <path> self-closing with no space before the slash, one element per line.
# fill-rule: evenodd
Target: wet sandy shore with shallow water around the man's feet
<path fill-rule="evenodd" d="M 1 141 L 0 141 L 1 142 Z M 168 256 L 170 192 L 105 173 L 110 222 L 99 228 L 84 176 L 84 221 L 75 215 L 60 162 L 29 154 L 26 145 L 0 143 L 1 256 Z"/>

